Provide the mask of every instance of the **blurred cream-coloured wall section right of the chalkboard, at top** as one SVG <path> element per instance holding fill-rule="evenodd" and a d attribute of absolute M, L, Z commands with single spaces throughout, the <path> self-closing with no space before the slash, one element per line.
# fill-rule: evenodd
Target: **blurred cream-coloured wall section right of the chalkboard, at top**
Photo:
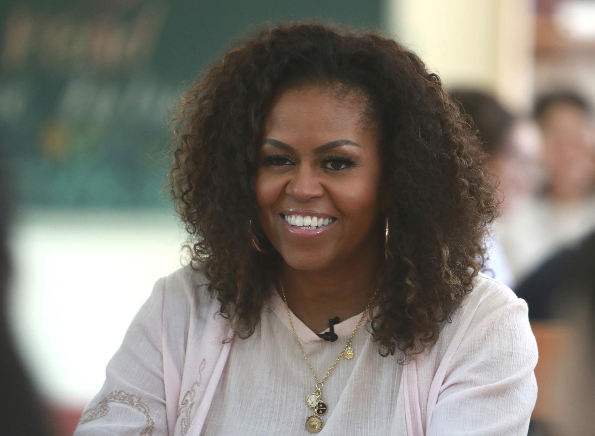
<path fill-rule="evenodd" d="M 530 107 L 533 0 L 386 0 L 384 28 L 416 52 L 447 86 L 495 93 Z"/>

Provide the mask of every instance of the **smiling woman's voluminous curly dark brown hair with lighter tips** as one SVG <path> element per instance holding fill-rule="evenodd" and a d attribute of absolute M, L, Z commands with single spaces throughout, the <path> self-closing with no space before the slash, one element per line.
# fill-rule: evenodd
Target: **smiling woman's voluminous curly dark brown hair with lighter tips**
<path fill-rule="evenodd" d="M 278 274 L 254 190 L 262 125 L 281 89 L 336 83 L 368 96 L 380 126 L 382 183 L 389 196 L 387 256 L 378 272 L 372 338 L 382 356 L 433 345 L 443 321 L 484 265 L 484 235 L 497 215 L 475 132 L 411 51 L 374 32 L 326 23 L 278 24 L 223 55 L 184 93 L 171 120 L 168 187 L 220 313 L 249 337 Z"/>

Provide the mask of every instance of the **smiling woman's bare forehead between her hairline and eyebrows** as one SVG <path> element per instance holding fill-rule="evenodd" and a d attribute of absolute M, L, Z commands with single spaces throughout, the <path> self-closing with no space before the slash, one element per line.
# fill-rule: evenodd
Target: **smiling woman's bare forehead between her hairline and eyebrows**
<path fill-rule="evenodd" d="M 265 118 L 264 136 L 283 134 L 299 137 L 300 141 L 304 137 L 353 140 L 375 136 L 377 128 L 366 116 L 368 104 L 361 91 L 337 92 L 319 86 L 284 90 L 274 99 Z"/>

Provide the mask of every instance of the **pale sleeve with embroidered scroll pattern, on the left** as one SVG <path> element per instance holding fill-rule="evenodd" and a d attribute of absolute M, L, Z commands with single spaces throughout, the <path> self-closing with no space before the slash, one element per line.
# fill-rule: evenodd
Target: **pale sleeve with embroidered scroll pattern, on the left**
<path fill-rule="evenodd" d="M 109 361 L 74 436 L 167 435 L 162 359 L 164 278 L 155 283 Z M 109 315 L 107 316 L 109 319 Z"/>

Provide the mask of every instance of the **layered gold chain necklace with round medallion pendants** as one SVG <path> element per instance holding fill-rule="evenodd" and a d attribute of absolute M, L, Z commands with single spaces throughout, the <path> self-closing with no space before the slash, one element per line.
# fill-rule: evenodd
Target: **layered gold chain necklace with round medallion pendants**
<path fill-rule="evenodd" d="M 316 380 L 314 392 L 308 394 L 308 396 L 306 397 L 306 404 L 308 404 L 308 407 L 310 409 L 313 409 L 314 411 L 314 414 L 308 416 L 308 418 L 306 419 L 306 430 L 308 430 L 311 433 L 318 433 L 322 430 L 322 427 L 324 426 L 324 421 L 322 420 L 321 416 L 324 416 L 328 413 L 328 404 L 322 399 L 322 387 L 324 386 L 324 382 L 327 380 L 328 376 L 331 375 L 331 372 L 333 372 L 334 367 L 337 365 L 337 363 L 339 363 L 339 360 L 341 360 L 342 357 L 345 357 L 345 359 L 351 359 L 353 356 L 355 356 L 355 352 L 353 351 L 353 347 L 351 346 L 351 341 L 353 340 L 353 337 L 355 337 L 355 334 L 358 333 L 359 327 L 362 325 L 362 322 L 364 321 L 364 318 L 368 313 L 368 309 L 372 303 L 372 300 L 374 300 L 376 291 L 374 291 L 374 293 L 372 294 L 372 297 L 370 298 L 368 305 L 364 309 L 364 313 L 362 313 L 362 317 L 359 318 L 358 324 L 355 326 L 355 329 L 353 329 L 353 333 L 347 340 L 345 347 L 343 347 L 343 350 L 341 350 L 341 353 L 339 353 L 339 356 L 337 356 L 337 359 L 335 359 L 333 365 L 330 367 L 330 369 L 328 369 L 327 374 L 324 376 L 324 378 L 320 380 L 318 379 L 316 372 L 314 372 L 314 368 L 312 368 L 312 365 L 310 365 L 308 356 L 306 356 L 306 353 L 303 351 L 302 343 L 300 342 L 299 338 L 297 338 L 296 329 L 295 327 L 293 327 L 292 313 L 289 310 L 289 305 L 287 305 L 285 290 L 283 289 L 283 283 L 281 283 L 281 280 L 279 280 L 279 285 L 281 288 L 281 296 L 283 296 L 283 302 L 285 303 L 285 308 L 287 309 L 287 316 L 289 316 L 289 324 L 291 324 L 292 326 L 293 337 L 296 338 L 297 346 L 299 347 L 300 352 L 302 352 L 302 356 L 306 360 L 306 363 L 308 363 L 308 368 L 310 368 L 310 372 L 312 372 L 312 375 L 314 375 L 314 379 Z"/>

